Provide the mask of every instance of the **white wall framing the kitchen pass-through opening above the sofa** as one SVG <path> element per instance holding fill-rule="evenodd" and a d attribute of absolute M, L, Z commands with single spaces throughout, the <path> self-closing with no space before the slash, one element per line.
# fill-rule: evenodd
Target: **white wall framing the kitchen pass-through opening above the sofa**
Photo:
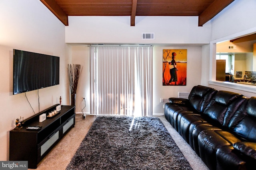
<path fill-rule="evenodd" d="M 211 22 L 211 42 L 210 42 L 210 61 L 209 61 L 209 80 L 214 80 L 214 72 L 216 65 L 214 64 L 216 58 L 216 43 L 222 42 L 244 35 L 249 35 L 256 32 L 256 1 L 255 0 L 235 0 L 215 16 Z M 209 70 L 203 67 L 202 72 Z M 216 88 L 217 90 L 229 90 L 238 92 L 244 96 L 256 96 L 256 88 L 254 86 L 243 85 L 238 86 L 234 84 L 219 84 L 209 82 L 208 86 Z"/>

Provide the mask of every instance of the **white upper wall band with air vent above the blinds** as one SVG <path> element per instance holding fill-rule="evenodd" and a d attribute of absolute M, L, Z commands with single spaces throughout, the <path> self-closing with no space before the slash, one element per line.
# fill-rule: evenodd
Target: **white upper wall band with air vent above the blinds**
<path fill-rule="evenodd" d="M 71 16 L 66 27 L 66 43 L 124 44 L 208 44 L 210 23 L 198 27 L 198 17 Z M 154 33 L 154 40 L 142 40 L 142 33 Z"/>

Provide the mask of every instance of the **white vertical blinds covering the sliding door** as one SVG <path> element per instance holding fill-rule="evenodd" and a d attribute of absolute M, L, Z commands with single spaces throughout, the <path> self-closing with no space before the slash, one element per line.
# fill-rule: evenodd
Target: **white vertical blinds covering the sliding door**
<path fill-rule="evenodd" d="M 152 115 L 152 47 L 90 47 L 90 113 Z"/>

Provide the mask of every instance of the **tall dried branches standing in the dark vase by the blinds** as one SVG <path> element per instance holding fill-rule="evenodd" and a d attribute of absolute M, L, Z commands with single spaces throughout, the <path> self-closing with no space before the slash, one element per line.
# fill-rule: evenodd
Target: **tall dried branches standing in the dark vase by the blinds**
<path fill-rule="evenodd" d="M 68 83 L 70 88 L 71 94 L 76 94 L 76 89 L 78 85 L 78 80 L 80 78 L 80 69 L 82 72 L 81 65 L 80 64 L 68 64 Z"/>

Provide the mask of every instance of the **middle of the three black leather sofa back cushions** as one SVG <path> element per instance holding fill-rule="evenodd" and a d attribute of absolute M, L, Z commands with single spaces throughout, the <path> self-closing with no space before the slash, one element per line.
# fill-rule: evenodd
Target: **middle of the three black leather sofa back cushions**
<path fill-rule="evenodd" d="M 242 94 L 220 90 L 209 102 L 204 114 L 215 125 L 228 128 L 230 119 L 245 100 Z"/>

